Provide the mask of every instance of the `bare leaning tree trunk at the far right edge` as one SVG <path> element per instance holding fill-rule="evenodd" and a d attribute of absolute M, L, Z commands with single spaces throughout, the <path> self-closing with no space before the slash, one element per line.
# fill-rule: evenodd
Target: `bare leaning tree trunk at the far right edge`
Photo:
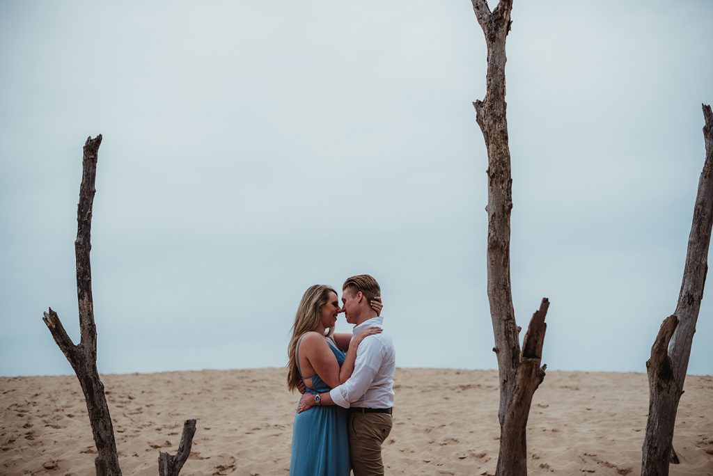
<path fill-rule="evenodd" d="M 713 225 L 713 112 L 703 105 L 706 159 L 698 181 L 693 223 L 676 311 L 665 319 L 646 363 L 649 417 L 642 447 L 642 476 L 668 475 L 678 403 L 683 394 L 693 334 L 708 271 Z"/>

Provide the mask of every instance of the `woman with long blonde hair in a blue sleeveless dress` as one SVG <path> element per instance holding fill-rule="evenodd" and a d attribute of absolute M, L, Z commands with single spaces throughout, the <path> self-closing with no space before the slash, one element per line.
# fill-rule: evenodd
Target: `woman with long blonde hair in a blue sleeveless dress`
<path fill-rule="evenodd" d="M 377 313 L 381 303 L 372 301 Z M 358 336 L 334 334 L 341 310 L 337 291 L 315 284 L 304 291 L 292 326 L 287 354 L 287 388 L 327 392 L 347 381 L 354 371 L 356 348 L 371 327 Z M 335 339 L 336 337 L 336 339 Z M 350 342 L 351 339 L 351 342 Z M 345 352 L 346 351 L 346 352 Z M 337 405 L 315 406 L 294 415 L 290 476 L 349 476 L 347 410 Z"/>

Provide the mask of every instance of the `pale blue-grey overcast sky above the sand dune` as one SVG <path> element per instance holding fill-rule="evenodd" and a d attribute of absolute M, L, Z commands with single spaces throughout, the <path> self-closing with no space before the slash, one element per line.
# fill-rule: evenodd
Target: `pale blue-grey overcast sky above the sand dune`
<path fill-rule="evenodd" d="M 550 299 L 550 370 L 645 372 L 681 285 L 713 3 L 516 0 L 512 18 L 515 317 Z M 0 58 L 0 375 L 73 373 L 42 313 L 78 342 L 100 133 L 100 372 L 284 366 L 304 290 L 361 273 L 398 366 L 497 368 L 468 1 L 4 0 Z M 689 373 L 713 374 L 712 310 L 707 293 Z"/>

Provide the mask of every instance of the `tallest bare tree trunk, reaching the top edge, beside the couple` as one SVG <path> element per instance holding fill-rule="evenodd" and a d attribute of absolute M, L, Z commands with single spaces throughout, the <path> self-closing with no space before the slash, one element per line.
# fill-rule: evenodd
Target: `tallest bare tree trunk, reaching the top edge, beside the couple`
<path fill-rule="evenodd" d="M 488 47 L 487 90 L 476 101 L 478 125 L 488 150 L 488 300 L 500 377 L 501 443 L 496 474 L 527 474 L 527 428 L 533 394 L 545 377 L 540 367 L 545 338 L 544 298 L 530 321 L 520 352 L 520 327 L 515 322 L 510 281 L 510 214 L 513 208 L 510 146 L 505 101 L 506 39 L 511 27 L 512 0 L 501 0 L 493 11 L 486 0 L 472 0 Z"/>

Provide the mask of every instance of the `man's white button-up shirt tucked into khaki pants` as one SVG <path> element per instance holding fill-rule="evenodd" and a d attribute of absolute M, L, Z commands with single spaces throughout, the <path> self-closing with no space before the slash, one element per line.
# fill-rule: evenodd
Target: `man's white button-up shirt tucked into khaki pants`
<path fill-rule="evenodd" d="M 384 318 L 377 316 L 354 327 L 352 336 L 367 327 L 384 327 Z M 386 332 L 364 338 L 356 349 L 354 372 L 329 395 L 340 407 L 391 408 L 394 406 L 394 369 L 396 351 Z"/>

